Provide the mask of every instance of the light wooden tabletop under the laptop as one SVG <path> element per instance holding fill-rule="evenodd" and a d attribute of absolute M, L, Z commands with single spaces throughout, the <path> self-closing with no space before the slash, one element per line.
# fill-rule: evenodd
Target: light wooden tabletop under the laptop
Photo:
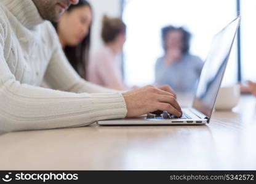
<path fill-rule="evenodd" d="M 182 103 L 182 102 L 181 102 Z M 256 98 L 206 126 L 98 126 L 0 136 L 0 170 L 256 169 Z"/>

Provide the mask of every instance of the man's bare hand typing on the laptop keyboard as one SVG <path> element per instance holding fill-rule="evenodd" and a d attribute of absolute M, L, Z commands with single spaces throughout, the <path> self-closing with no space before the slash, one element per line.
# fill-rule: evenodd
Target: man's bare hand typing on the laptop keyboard
<path fill-rule="evenodd" d="M 177 117 L 182 116 L 182 109 L 176 101 L 176 94 L 169 86 L 155 88 L 148 85 L 123 94 L 126 101 L 126 117 L 137 117 L 156 110 L 167 111 Z"/>

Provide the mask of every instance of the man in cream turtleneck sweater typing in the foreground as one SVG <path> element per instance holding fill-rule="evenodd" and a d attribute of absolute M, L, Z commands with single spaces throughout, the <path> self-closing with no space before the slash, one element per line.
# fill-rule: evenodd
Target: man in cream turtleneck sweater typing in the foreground
<path fill-rule="evenodd" d="M 90 125 L 154 110 L 180 116 L 168 86 L 118 93 L 81 79 L 49 21 L 78 0 L 0 1 L 0 131 Z M 43 80 L 52 89 L 39 87 Z"/>

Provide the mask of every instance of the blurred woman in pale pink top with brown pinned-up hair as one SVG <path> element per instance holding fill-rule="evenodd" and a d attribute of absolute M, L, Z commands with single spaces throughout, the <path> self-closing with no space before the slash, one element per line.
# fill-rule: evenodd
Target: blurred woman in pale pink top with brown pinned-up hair
<path fill-rule="evenodd" d="M 114 90 L 129 90 L 122 82 L 118 56 L 126 41 L 126 25 L 119 18 L 103 17 L 104 45 L 90 59 L 89 81 Z"/>

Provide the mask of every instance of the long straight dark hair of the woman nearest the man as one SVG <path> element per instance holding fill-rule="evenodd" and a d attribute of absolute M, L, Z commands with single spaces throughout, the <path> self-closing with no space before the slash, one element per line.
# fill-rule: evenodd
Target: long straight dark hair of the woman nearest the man
<path fill-rule="evenodd" d="M 86 0 L 79 0 L 79 3 L 76 5 L 71 5 L 67 12 L 71 12 L 72 10 L 82 7 L 88 6 L 92 10 L 89 2 Z M 56 31 L 58 32 L 58 23 L 52 22 Z M 86 79 L 86 67 L 89 60 L 89 48 L 90 48 L 90 28 L 87 36 L 82 40 L 82 42 L 74 47 L 66 46 L 64 48 L 64 52 L 70 64 L 74 67 L 76 72 L 83 78 Z"/>

